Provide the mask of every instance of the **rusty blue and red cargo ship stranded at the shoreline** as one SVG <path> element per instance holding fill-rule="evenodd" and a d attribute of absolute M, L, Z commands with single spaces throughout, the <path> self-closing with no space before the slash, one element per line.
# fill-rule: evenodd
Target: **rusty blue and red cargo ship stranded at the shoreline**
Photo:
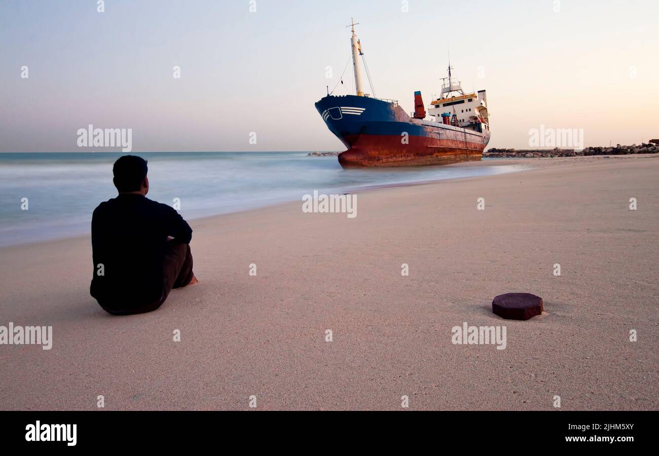
<path fill-rule="evenodd" d="M 347 150 L 339 163 L 347 167 L 448 165 L 480 160 L 490 140 L 485 90 L 465 93 L 451 74 L 442 78 L 440 98 L 424 107 L 421 92 L 414 94 L 415 111 L 408 114 L 397 100 L 364 93 L 361 43 L 352 24 L 351 48 L 355 95 L 329 93 L 316 109 L 329 130 Z M 368 74 L 368 67 L 366 67 Z M 372 84 L 371 91 L 372 89 Z M 426 120 L 426 114 L 432 119 Z"/>

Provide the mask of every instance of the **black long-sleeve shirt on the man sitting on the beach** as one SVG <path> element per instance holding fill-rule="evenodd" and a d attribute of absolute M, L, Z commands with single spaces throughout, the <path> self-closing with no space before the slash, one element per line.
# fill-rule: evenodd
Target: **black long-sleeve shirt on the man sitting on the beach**
<path fill-rule="evenodd" d="M 190 225 L 170 206 L 130 193 L 102 202 L 92 215 L 92 297 L 122 308 L 160 299 L 169 236 L 184 244 L 192 239 Z"/>

